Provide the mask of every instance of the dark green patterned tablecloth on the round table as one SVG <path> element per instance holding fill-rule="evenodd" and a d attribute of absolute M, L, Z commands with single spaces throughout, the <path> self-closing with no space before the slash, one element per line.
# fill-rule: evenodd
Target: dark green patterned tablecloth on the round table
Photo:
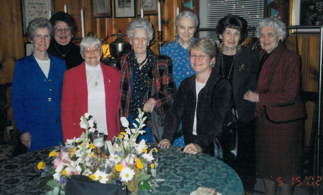
<path fill-rule="evenodd" d="M 44 194 L 46 190 L 39 188 L 37 163 L 49 163 L 50 151 L 47 148 L 0 160 L 0 194 Z M 157 177 L 166 180 L 152 192 L 138 194 L 189 194 L 200 186 L 216 188 L 223 195 L 243 194 L 238 174 L 226 163 L 203 153 L 185 154 L 178 147 L 159 149 Z"/>

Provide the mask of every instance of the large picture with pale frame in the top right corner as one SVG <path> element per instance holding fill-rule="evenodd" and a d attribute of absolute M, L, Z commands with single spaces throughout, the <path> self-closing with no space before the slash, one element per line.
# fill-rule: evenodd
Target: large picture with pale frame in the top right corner
<path fill-rule="evenodd" d="M 323 0 L 290 1 L 290 25 L 323 25 Z M 319 29 L 297 29 L 297 31 L 316 32 Z"/>

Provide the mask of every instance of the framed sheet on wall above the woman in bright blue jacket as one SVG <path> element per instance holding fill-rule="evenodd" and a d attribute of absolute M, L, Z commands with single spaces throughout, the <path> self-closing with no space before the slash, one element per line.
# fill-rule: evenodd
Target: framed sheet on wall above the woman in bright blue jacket
<path fill-rule="evenodd" d="M 36 17 L 50 18 L 54 12 L 54 0 L 21 0 L 23 34 L 26 36 L 27 27 Z"/>

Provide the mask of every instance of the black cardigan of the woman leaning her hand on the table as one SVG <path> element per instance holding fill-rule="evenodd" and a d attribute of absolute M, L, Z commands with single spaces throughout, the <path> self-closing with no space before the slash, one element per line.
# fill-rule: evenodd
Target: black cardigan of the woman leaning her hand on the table
<path fill-rule="evenodd" d="M 232 108 L 232 85 L 229 80 L 220 78 L 221 75 L 212 70 L 205 86 L 198 93 L 197 135 L 192 134 L 196 106 L 195 75 L 181 82 L 165 118 L 163 139 L 172 142 L 182 120 L 185 145 L 195 143 L 204 153 L 214 155 L 212 141 L 222 128 L 226 112 Z"/>

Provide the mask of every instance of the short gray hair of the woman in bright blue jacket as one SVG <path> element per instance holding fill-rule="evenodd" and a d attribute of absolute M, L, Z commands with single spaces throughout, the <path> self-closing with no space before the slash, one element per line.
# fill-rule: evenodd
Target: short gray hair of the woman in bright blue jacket
<path fill-rule="evenodd" d="M 36 28 L 45 28 L 47 27 L 49 30 L 49 35 L 53 37 L 54 35 L 54 28 L 51 24 L 51 22 L 48 19 L 45 19 L 43 17 L 37 17 L 33 20 L 31 20 L 27 27 L 27 37 L 32 40 L 33 36 L 35 35 Z"/>

